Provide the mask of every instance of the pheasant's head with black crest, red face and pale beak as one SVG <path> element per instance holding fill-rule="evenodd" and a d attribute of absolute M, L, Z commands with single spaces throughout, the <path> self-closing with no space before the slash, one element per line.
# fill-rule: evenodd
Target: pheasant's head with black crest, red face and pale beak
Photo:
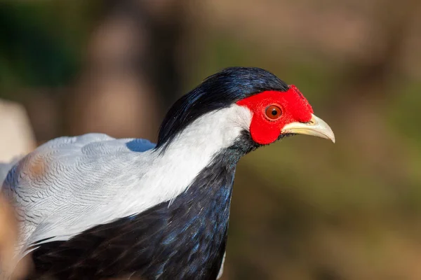
<path fill-rule="evenodd" d="M 218 119 L 216 112 L 220 112 Z M 257 146 L 294 134 L 335 142 L 330 127 L 314 116 L 312 106 L 295 85 L 287 85 L 260 68 L 227 68 L 178 99 L 161 125 L 157 148 L 168 146 L 183 130 L 203 118 L 208 118 L 209 126 L 218 123 L 212 132 L 220 130 L 221 137 L 233 134 L 234 141 L 235 135 L 246 132 Z"/>

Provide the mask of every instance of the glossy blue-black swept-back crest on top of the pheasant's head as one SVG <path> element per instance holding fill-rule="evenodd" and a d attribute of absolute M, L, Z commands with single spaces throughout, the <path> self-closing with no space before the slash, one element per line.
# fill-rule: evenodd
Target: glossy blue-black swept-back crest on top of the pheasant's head
<path fill-rule="evenodd" d="M 168 144 L 194 120 L 210 111 L 267 90 L 288 90 L 274 74 L 256 67 L 229 67 L 209 76 L 191 92 L 178 99 L 163 119 L 156 148 Z"/>

